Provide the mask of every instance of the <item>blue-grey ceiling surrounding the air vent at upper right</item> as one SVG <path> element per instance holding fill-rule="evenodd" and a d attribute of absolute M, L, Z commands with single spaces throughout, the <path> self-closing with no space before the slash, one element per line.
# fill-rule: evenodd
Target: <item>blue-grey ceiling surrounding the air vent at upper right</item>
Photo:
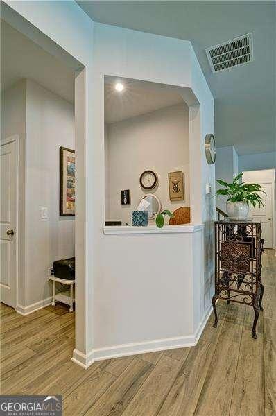
<path fill-rule="evenodd" d="M 190 40 L 215 98 L 218 146 L 276 150 L 274 1 L 77 1 L 94 21 Z M 205 49 L 253 34 L 255 60 L 213 74 Z"/>

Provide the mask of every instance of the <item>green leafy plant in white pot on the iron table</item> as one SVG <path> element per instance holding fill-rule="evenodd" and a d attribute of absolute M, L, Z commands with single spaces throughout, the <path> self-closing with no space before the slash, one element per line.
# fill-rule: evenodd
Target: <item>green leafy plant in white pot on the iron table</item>
<path fill-rule="evenodd" d="M 243 172 L 239 173 L 232 184 L 227 184 L 227 182 L 218 179 L 216 182 L 222 185 L 225 189 L 218 189 L 216 195 L 227 196 L 226 202 L 226 211 L 230 220 L 239 220 L 243 221 L 248 218 L 249 204 L 252 204 L 253 207 L 256 205 L 261 205 L 264 207 L 263 202 L 261 201 L 261 196 L 259 192 L 261 190 L 261 185 L 259 184 L 249 184 L 247 182 L 239 182 L 242 178 Z"/>

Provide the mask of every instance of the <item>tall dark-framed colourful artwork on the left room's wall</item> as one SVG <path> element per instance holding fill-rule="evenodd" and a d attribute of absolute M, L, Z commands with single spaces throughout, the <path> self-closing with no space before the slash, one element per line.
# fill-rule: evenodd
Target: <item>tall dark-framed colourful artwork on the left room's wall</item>
<path fill-rule="evenodd" d="M 60 147 L 60 215 L 75 215 L 75 150 Z"/>

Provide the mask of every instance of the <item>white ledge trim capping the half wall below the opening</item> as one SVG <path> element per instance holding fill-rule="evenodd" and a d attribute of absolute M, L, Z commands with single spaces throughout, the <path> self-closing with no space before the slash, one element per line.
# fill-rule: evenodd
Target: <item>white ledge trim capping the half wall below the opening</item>
<path fill-rule="evenodd" d="M 194 233 L 203 229 L 203 224 L 164 225 L 158 228 L 156 225 L 146 227 L 133 227 L 132 225 L 106 225 L 103 234 L 175 234 Z"/>

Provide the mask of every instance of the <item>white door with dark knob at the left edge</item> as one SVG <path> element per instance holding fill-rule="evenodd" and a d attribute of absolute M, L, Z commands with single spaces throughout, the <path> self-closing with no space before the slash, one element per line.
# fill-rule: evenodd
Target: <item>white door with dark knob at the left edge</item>
<path fill-rule="evenodd" d="M 1 302 L 15 307 L 16 275 L 16 142 L 1 145 L 0 293 Z"/>

